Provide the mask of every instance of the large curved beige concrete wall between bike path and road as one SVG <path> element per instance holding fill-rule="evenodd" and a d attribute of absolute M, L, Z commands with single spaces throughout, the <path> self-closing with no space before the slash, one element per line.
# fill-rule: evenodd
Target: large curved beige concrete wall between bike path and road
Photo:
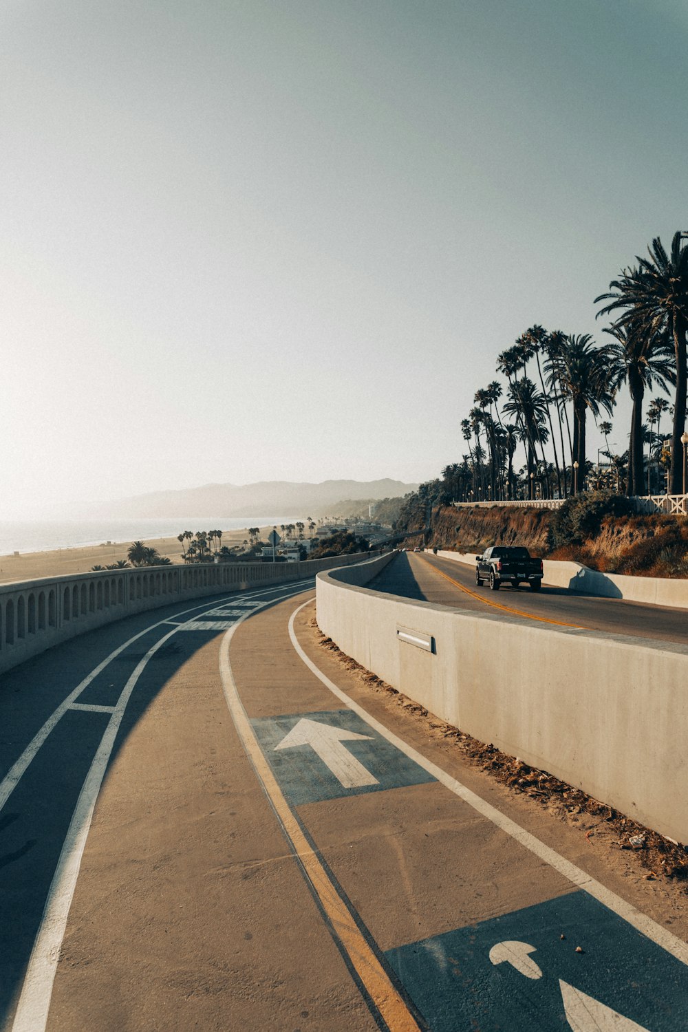
<path fill-rule="evenodd" d="M 347 655 L 480 741 L 688 841 L 687 646 L 524 626 L 347 584 L 347 574 L 317 578 L 319 626 Z"/>

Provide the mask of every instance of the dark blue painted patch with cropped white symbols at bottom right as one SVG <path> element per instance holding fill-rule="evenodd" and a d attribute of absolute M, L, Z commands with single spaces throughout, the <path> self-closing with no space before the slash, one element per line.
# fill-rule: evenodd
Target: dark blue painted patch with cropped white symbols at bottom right
<path fill-rule="evenodd" d="M 433 1032 L 688 1028 L 688 967 L 582 891 L 386 956 Z"/>

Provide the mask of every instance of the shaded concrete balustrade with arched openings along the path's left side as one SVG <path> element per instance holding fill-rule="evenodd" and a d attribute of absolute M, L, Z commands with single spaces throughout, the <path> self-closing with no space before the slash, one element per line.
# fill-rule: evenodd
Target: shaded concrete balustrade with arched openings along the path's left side
<path fill-rule="evenodd" d="M 376 554 L 376 553 L 375 553 Z M 0 674 L 33 655 L 132 613 L 187 599 L 313 577 L 360 562 L 340 555 L 303 562 L 219 562 L 71 574 L 0 585 Z"/>

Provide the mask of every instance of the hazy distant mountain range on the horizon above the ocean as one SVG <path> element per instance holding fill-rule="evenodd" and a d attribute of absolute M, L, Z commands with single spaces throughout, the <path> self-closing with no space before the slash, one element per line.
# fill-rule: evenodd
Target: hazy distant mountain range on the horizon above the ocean
<path fill-rule="evenodd" d="M 107 519 L 191 516 L 326 516 L 342 498 L 398 497 L 418 484 L 399 480 L 325 480 L 298 484 L 286 480 L 258 484 L 205 484 L 182 491 L 154 491 L 98 506 L 91 514 Z"/>

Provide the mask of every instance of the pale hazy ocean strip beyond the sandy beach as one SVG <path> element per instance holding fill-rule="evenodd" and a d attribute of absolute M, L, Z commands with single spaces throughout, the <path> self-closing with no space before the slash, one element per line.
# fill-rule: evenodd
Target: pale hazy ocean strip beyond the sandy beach
<path fill-rule="evenodd" d="M 183 530 L 238 530 L 296 523 L 304 516 L 192 516 L 179 519 L 0 520 L 0 555 L 172 538 Z"/>

